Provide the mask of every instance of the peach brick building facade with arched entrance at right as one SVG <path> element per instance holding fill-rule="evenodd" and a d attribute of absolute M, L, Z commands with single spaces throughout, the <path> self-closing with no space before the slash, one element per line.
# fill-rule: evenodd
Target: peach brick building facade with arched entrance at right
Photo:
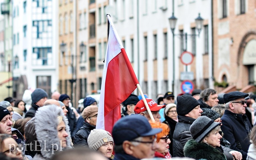
<path fill-rule="evenodd" d="M 213 1 L 214 77 L 234 90 L 256 81 L 255 6 L 253 0 Z"/>

